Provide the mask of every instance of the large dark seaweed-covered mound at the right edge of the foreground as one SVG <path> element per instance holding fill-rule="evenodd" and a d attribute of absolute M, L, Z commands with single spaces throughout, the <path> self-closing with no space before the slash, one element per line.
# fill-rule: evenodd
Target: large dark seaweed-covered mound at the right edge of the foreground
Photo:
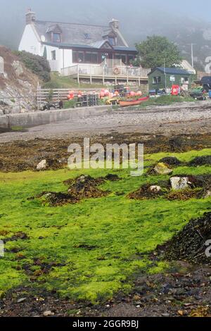
<path fill-rule="evenodd" d="M 211 213 L 205 213 L 202 218 L 191 220 L 165 246 L 157 249 L 162 252 L 162 258 L 169 261 L 211 265 L 211 256 L 207 256 L 207 241 L 210 239 Z"/>

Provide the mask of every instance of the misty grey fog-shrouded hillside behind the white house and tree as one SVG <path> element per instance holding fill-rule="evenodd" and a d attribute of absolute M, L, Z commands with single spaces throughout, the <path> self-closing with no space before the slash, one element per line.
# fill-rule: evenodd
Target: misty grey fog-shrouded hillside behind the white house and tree
<path fill-rule="evenodd" d="M 177 1 L 172 5 L 166 0 L 0 0 L 0 44 L 13 49 L 18 48 L 25 26 L 25 12 L 31 7 L 39 20 L 56 20 L 72 23 L 108 24 L 111 18 L 117 18 L 121 30 L 133 45 L 145 39 L 147 35 L 165 35 L 177 42 L 182 54 L 191 60 L 191 46 L 194 43 L 195 60 L 198 68 L 205 65 L 205 58 L 211 56 L 211 24 L 206 11 L 193 6 L 193 1 Z M 207 1 L 207 8 L 209 2 Z M 10 5 L 10 6 L 9 6 Z"/>

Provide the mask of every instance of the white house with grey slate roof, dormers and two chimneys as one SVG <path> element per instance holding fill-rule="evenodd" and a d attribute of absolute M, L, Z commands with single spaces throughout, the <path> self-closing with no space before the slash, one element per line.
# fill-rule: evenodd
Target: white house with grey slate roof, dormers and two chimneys
<path fill-rule="evenodd" d="M 60 73 L 75 65 L 101 65 L 105 59 L 129 65 L 137 54 L 122 36 L 117 20 L 108 26 L 47 22 L 37 20 L 31 10 L 26 13 L 19 50 L 46 56 L 51 70 Z"/>

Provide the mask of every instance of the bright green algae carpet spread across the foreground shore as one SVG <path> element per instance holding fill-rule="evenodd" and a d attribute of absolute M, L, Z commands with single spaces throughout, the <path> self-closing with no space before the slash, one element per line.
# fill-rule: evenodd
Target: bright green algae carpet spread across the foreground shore
<path fill-rule="evenodd" d="M 205 149 L 173 155 L 181 161 L 191 161 L 210 152 Z M 170 155 L 146 155 L 145 165 Z M 109 196 L 60 207 L 43 206 L 39 200 L 27 198 L 43 191 L 65 191 L 63 180 L 82 173 L 100 177 L 111 171 L 0 173 L 0 239 L 18 232 L 27 234 L 27 239 L 5 244 L 6 254 L 0 261 L 0 296 L 9 289 L 29 286 L 34 291 L 56 291 L 77 301 L 111 299 L 118 291 L 131 289 L 136 273 L 165 270 L 167 263 L 152 264 L 147 254 L 181 230 L 188 220 L 210 211 L 210 198 L 129 200 L 129 192 L 146 182 L 167 180 L 168 176 L 131 177 L 129 170 L 112 172 L 122 180 L 102 185 L 102 189 L 110 190 Z M 174 170 L 174 174 L 179 173 L 205 174 L 210 173 L 210 168 L 183 165 Z M 49 273 L 43 273 L 43 265 L 51 265 Z"/>

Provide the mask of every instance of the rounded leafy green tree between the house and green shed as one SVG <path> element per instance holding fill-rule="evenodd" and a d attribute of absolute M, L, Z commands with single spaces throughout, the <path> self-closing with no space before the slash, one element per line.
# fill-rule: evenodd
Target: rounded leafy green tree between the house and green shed
<path fill-rule="evenodd" d="M 171 68 L 182 61 L 179 48 L 166 37 L 147 37 L 146 41 L 136 44 L 136 49 L 139 55 L 135 64 L 143 68 L 163 67 L 164 63 Z"/>

